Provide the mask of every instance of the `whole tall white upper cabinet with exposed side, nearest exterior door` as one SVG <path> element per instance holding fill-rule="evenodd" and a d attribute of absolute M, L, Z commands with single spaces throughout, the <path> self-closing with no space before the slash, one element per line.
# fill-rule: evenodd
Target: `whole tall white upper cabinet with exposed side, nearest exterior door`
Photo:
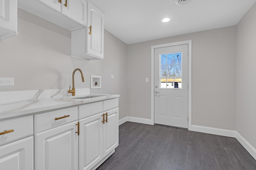
<path fill-rule="evenodd" d="M 71 56 L 86 60 L 104 58 L 104 14 L 89 1 L 87 27 L 71 32 Z"/>

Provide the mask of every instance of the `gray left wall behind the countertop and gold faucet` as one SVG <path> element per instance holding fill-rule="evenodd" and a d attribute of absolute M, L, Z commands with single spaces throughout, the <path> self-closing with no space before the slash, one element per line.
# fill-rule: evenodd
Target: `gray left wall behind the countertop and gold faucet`
<path fill-rule="evenodd" d="M 0 77 L 14 77 L 14 86 L 0 86 L 0 91 L 90 88 L 90 75 L 102 76 L 102 89 L 97 94 L 120 94 L 120 119 L 126 113 L 126 50 L 127 45 L 104 31 L 104 60 L 85 61 L 71 58 L 71 34 L 46 20 L 18 9 L 18 33 L 0 41 Z M 115 78 L 112 79 L 111 75 Z"/>

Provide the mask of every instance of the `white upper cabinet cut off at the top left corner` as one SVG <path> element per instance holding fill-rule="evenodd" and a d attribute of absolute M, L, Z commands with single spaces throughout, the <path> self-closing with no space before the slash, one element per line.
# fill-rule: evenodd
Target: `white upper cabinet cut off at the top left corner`
<path fill-rule="evenodd" d="M 17 0 L 0 0 L 0 39 L 6 39 L 17 32 Z"/>

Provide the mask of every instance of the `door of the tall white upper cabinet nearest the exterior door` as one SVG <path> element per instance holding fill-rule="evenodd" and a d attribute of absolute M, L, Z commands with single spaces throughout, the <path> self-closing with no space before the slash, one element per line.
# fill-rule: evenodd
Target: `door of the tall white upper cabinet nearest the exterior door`
<path fill-rule="evenodd" d="M 103 59 L 104 15 L 90 2 L 87 8 L 86 42 L 87 54 Z"/>

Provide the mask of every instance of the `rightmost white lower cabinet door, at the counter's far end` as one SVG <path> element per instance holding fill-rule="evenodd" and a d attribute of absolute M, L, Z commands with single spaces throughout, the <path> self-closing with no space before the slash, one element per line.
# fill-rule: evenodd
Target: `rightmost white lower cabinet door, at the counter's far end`
<path fill-rule="evenodd" d="M 103 125 L 103 157 L 109 154 L 113 149 L 118 146 L 118 108 L 104 112 L 105 122 Z"/>

